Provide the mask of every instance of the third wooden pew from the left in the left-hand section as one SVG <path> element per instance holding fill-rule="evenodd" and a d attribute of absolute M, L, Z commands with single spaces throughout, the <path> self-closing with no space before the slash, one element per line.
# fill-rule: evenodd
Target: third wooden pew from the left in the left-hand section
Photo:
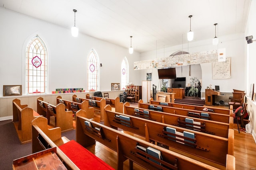
<path fill-rule="evenodd" d="M 76 115 L 76 112 L 78 110 L 83 109 L 84 111 L 86 111 L 86 118 L 94 119 L 94 108 L 89 107 L 89 103 L 86 100 L 84 100 L 81 103 L 78 103 L 78 102 L 72 102 L 72 101 L 69 101 L 69 100 L 64 100 L 64 99 L 62 99 L 61 96 L 58 96 L 56 98 L 56 104 L 59 104 L 59 103 L 64 104 L 65 108 L 67 110 L 73 111 L 74 115 Z"/>

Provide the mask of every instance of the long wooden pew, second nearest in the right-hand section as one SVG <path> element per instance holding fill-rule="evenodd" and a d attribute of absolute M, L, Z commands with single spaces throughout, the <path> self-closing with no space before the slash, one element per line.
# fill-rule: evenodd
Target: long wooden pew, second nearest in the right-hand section
<path fill-rule="evenodd" d="M 126 118 L 129 118 L 129 120 L 125 121 L 121 119 L 121 116 L 127 116 Z M 190 158 L 210 164 L 217 168 L 219 168 L 219 166 L 216 165 L 216 163 L 222 166 L 226 165 L 226 154 L 233 155 L 234 153 L 233 129 L 228 129 L 227 138 L 218 137 L 131 115 L 124 115 L 122 113 L 111 111 L 108 106 L 105 107 L 104 125 L 114 127 L 115 129 L 120 128 L 136 135 L 140 135 L 145 137 L 148 142 L 154 141 L 155 143 L 163 144 L 164 146 L 167 146 L 166 149 L 170 147 L 170 150 L 174 152 L 186 156 L 189 155 L 188 157 Z M 183 132 L 188 132 L 187 134 L 192 134 L 194 139 L 187 141 L 188 139 L 185 138 L 185 134 L 184 137 L 177 135 L 175 138 L 173 133 L 168 133 L 166 127 L 174 128 L 176 131 L 181 132 L 182 135 Z M 174 138 L 170 138 L 168 135 Z M 177 137 L 180 139 L 182 138 L 182 140 L 177 142 Z"/>

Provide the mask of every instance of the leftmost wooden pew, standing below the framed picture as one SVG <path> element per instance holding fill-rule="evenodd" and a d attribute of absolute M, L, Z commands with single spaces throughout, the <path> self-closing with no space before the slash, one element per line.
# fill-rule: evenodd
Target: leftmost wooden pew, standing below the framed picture
<path fill-rule="evenodd" d="M 13 123 L 17 131 L 20 143 L 25 144 L 31 141 L 31 121 L 40 116 L 28 105 L 20 104 L 19 99 L 12 100 Z"/>

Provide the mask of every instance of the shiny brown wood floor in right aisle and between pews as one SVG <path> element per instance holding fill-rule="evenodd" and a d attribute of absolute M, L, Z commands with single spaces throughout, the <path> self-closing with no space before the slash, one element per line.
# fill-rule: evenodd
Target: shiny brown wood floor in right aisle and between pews
<path fill-rule="evenodd" d="M 100 116 L 96 115 L 95 121 L 99 122 L 99 120 L 100 120 Z M 75 121 L 73 124 L 75 128 Z M 233 129 L 234 129 L 234 157 L 236 158 L 236 170 L 256 170 L 256 144 L 252 135 L 247 134 L 243 131 L 240 131 L 240 133 L 238 133 L 238 127 L 236 123 L 234 123 Z M 124 133 L 128 133 L 128 132 L 124 132 Z M 90 147 L 87 147 L 86 149 L 90 150 L 90 152 L 94 153 L 104 162 L 106 162 L 113 168 L 117 169 L 117 161 L 116 161 L 117 154 L 113 150 L 109 149 L 108 147 L 105 147 L 99 142 L 96 142 L 96 145 L 92 145 Z M 124 162 L 124 170 L 128 170 L 128 169 L 129 169 L 129 162 L 128 160 L 126 160 Z M 143 169 L 144 168 L 134 163 L 134 170 L 143 170 Z"/>

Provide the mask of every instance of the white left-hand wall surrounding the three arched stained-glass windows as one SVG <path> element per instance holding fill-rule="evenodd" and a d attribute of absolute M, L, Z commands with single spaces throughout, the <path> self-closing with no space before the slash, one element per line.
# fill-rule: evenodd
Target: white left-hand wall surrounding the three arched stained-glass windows
<path fill-rule="evenodd" d="M 133 70 L 139 57 L 130 55 L 128 47 L 120 47 L 79 33 L 72 37 L 70 28 L 60 27 L 0 8 L 0 96 L 3 85 L 22 84 L 25 92 L 25 50 L 30 39 L 39 35 L 48 49 L 48 92 L 56 88 L 84 88 L 87 86 L 86 61 L 90 49 L 98 53 L 100 63 L 100 90 L 111 90 L 111 83 L 121 82 L 121 63 L 126 56 L 129 63 L 129 82 L 140 83 Z M 129 43 L 129 42 L 128 42 Z M 1 90 L 2 89 L 2 90 Z"/>

